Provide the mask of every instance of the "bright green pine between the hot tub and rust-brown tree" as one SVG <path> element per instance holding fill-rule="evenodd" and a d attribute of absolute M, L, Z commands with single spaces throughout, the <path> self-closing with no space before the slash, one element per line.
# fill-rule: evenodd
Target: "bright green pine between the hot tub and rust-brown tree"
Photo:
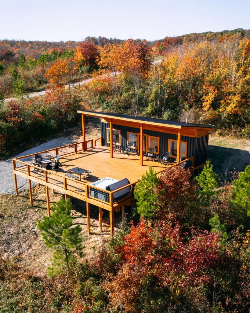
<path fill-rule="evenodd" d="M 136 186 L 134 197 L 137 200 L 138 213 L 144 218 L 153 218 L 158 209 L 157 193 L 155 192 L 158 184 L 157 172 L 149 167 L 149 172 L 146 171 L 146 175 L 142 176 Z"/>

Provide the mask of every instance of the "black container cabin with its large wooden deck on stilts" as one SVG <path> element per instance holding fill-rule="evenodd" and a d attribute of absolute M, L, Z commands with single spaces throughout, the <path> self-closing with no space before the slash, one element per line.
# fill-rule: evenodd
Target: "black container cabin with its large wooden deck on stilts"
<path fill-rule="evenodd" d="M 83 140 L 67 146 L 12 159 L 16 195 L 17 175 L 46 188 L 50 215 L 49 188 L 86 202 L 87 231 L 90 233 L 90 205 L 110 215 L 110 234 L 114 233 L 114 212 L 133 205 L 133 191 L 151 166 L 157 173 L 181 165 L 192 173 L 207 160 L 208 134 L 212 127 L 154 118 L 78 111 L 82 117 Z M 85 116 L 100 118 L 98 138 L 86 140 Z M 99 145 L 98 145 L 99 144 Z M 169 154 L 168 162 L 163 156 Z M 59 162 L 58 162 L 59 157 Z M 42 164 L 42 165 L 41 165 Z M 55 167 L 59 167 L 55 171 Z"/>

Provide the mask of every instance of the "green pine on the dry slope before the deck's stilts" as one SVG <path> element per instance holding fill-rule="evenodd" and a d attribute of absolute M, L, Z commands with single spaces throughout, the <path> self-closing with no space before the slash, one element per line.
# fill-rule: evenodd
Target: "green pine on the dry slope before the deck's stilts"
<path fill-rule="evenodd" d="M 82 238 L 80 225 L 72 227 L 71 203 L 64 199 L 51 207 L 51 216 L 44 216 L 38 221 L 37 227 L 47 247 L 53 251 L 53 263 L 48 274 L 58 272 L 60 266 L 69 267 L 73 261 L 73 253 L 81 254 Z"/>

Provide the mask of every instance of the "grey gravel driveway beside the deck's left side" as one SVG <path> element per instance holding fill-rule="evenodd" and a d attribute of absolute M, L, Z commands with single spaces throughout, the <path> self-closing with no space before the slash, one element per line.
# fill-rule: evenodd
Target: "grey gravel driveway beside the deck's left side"
<path fill-rule="evenodd" d="M 60 146 L 66 146 L 71 143 L 75 143 L 78 141 L 81 141 L 82 138 L 78 139 L 78 136 L 70 136 L 70 137 L 58 137 L 55 139 L 52 139 L 50 141 L 47 141 L 39 146 L 36 146 L 32 149 L 26 150 L 20 154 L 18 154 L 15 157 L 18 156 L 25 156 L 28 154 L 41 152 L 48 149 L 53 149 Z M 32 162 L 34 161 L 34 157 L 26 158 L 25 161 Z M 33 185 L 35 185 L 35 182 L 32 182 Z M 27 189 L 28 188 L 28 182 L 27 179 L 21 176 L 17 175 L 17 185 L 18 190 Z M 0 194 L 1 193 L 8 193 L 12 194 L 15 192 L 15 185 L 14 185 L 14 178 L 13 178 L 13 172 L 12 172 L 12 159 L 0 162 Z"/>

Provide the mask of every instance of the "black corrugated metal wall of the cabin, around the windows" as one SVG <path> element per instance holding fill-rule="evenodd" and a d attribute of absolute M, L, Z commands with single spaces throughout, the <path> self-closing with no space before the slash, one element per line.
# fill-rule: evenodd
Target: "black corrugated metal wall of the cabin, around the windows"
<path fill-rule="evenodd" d="M 107 143 L 107 127 L 109 127 L 108 123 L 101 123 L 101 134 L 103 137 L 103 146 L 109 146 Z M 127 132 L 131 131 L 133 133 L 140 133 L 139 128 L 120 126 L 113 124 L 115 129 L 119 129 L 121 131 L 121 144 L 126 149 L 127 147 Z M 144 134 L 151 135 L 155 137 L 160 137 L 160 148 L 159 155 L 162 156 L 168 151 L 168 139 L 177 140 L 177 135 L 168 134 L 159 131 L 148 131 L 144 130 Z M 206 137 L 206 138 L 203 138 Z M 181 141 L 187 142 L 187 158 L 194 156 L 195 157 L 195 166 L 204 163 L 207 160 L 207 144 L 208 144 L 208 135 L 200 138 L 193 138 L 189 136 L 181 136 Z M 198 151 L 198 152 L 197 152 Z M 196 153 L 198 153 L 198 159 L 196 157 Z M 170 158 L 169 161 L 175 161 L 175 158 Z M 205 160 L 205 161 L 204 161 Z"/>

